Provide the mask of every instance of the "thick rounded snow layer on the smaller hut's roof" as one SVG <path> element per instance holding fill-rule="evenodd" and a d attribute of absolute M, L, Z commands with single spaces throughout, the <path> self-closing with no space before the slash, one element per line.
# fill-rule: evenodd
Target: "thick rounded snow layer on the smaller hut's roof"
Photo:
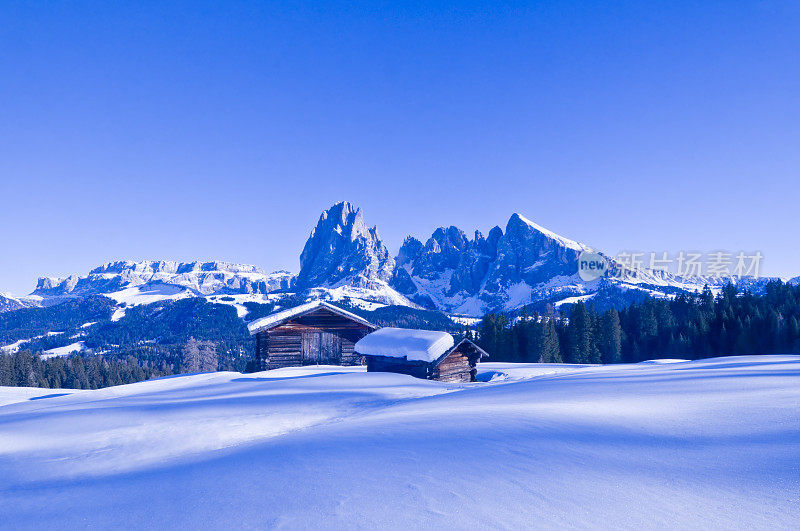
<path fill-rule="evenodd" d="M 453 348 L 447 332 L 410 328 L 381 328 L 361 338 L 355 351 L 362 356 L 386 356 L 433 362 Z"/>

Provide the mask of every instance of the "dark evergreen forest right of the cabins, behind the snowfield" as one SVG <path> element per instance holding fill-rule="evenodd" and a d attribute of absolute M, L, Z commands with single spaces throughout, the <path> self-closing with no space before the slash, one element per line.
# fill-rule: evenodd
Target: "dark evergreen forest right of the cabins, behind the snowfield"
<path fill-rule="evenodd" d="M 800 352 L 800 286 L 770 282 L 763 294 L 725 286 L 645 299 L 620 310 L 578 302 L 567 311 L 491 313 L 479 343 L 494 361 L 619 363 Z"/>

